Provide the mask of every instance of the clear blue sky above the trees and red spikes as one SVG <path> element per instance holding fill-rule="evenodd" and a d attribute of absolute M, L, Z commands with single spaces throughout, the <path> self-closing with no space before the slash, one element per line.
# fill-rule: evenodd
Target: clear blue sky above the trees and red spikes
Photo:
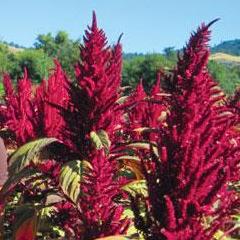
<path fill-rule="evenodd" d="M 240 0 L 0 0 L 0 40 L 32 46 L 40 33 L 82 38 L 95 10 L 109 43 L 125 52 L 181 48 L 201 22 L 220 17 L 211 44 L 240 38 Z"/>

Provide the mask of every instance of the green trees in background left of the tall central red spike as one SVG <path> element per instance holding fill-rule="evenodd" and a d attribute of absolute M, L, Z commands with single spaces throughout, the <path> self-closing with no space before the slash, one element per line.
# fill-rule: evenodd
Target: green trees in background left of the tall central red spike
<path fill-rule="evenodd" d="M 66 32 L 60 31 L 56 36 L 40 34 L 33 48 L 15 48 L 1 43 L 0 72 L 8 72 L 16 81 L 27 67 L 33 82 L 39 83 L 48 77 L 53 67 L 52 59 L 57 58 L 68 75 L 73 77 L 78 56 L 79 40 L 71 40 Z"/>

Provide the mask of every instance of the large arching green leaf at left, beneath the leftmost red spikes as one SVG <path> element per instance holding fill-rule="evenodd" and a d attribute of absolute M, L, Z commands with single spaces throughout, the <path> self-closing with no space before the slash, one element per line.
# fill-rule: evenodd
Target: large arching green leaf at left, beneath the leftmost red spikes
<path fill-rule="evenodd" d="M 9 174 L 10 176 L 20 172 L 31 162 L 38 162 L 40 152 L 49 144 L 57 142 L 55 138 L 41 138 L 24 144 L 18 148 L 9 159 Z"/>

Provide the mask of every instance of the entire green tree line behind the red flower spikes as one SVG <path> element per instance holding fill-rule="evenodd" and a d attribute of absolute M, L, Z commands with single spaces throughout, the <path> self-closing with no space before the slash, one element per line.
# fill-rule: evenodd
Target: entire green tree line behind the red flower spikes
<path fill-rule="evenodd" d="M 0 43 L 0 74 L 8 72 L 14 80 L 21 77 L 24 67 L 35 83 L 48 77 L 53 68 L 53 59 L 57 58 L 70 77 L 74 77 L 74 64 L 79 59 L 80 40 L 72 40 L 64 31 L 55 36 L 51 33 L 38 35 L 34 47 L 16 48 L 16 44 Z M 177 51 L 165 48 L 162 54 L 124 54 L 123 84 L 135 87 L 142 79 L 146 89 L 154 83 L 158 71 L 173 69 L 177 61 Z M 70 64 L 69 64 L 70 63 Z M 219 81 L 227 94 L 231 94 L 240 85 L 240 67 L 226 65 L 216 61 L 209 62 L 209 70 Z M 0 85 L 0 91 L 2 87 Z"/>

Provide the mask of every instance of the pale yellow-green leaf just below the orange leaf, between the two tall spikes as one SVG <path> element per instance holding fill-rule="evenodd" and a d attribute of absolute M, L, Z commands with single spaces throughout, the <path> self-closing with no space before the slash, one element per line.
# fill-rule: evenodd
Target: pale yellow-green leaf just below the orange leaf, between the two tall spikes
<path fill-rule="evenodd" d="M 147 183 L 146 180 L 135 180 L 132 181 L 125 186 L 122 187 L 122 189 L 132 196 L 136 195 L 142 195 L 144 197 L 148 196 L 148 189 L 147 189 Z"/>

